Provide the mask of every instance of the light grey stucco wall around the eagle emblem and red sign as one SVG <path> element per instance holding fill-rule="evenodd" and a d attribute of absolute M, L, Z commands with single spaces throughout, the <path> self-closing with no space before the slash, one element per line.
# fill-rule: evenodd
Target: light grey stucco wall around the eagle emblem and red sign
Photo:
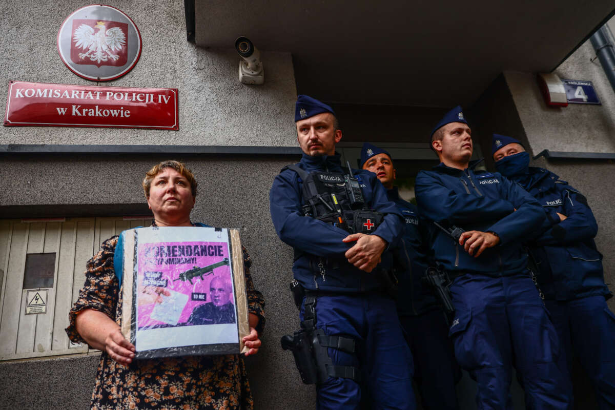
<path fill-rule="evenodd" d="M 263 52 L 265 84 L 240 84 L 240 57 L 186 41 L 182 1 L 109 2 L 135 22 L 143 49 L 125 76 L 93 83 L 71 73 L 57 51 L 57 34 L 78 1 L 9 1 L 0 10 L 0 104 L 10 80 L 179 90 L 180 130 L 3 127 L 0 144 L 177 144 L 289 146 L 296 99 L 290 53 Z M 41 13 L 43 15 L 41 15 Z M 42 23 L 44 22 L 44 23 Z M 248 34 L 249 33 L 238 33 Z"/>

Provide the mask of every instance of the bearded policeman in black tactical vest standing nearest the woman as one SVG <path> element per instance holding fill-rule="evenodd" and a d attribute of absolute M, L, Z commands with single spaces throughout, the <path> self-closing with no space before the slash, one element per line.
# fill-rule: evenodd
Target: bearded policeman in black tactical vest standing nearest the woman
<path fill-rule="evenodd" d="M 373 173 L 352 170 L 363 208 L 373 215 L 371 210 L 378 211 L 381 220 L 377 227 L 375 216 L 351 221 L 357 210 L 349 208 L 343 193 L 340 178 L 347 170 L 335 152 L 342 138 L 335 112 L 300 95 L 295 122 L 303 157 L 276 176 L 269 200 L 278 236 L 295 250 L 294 278 L 306 292 L 302 327 L 309 322 L 328 336 L 319 338 L 319 344 L 324 340 L 328 345 L 332 366 L 327 366 L 329 377 L 316 385 L 317 408 L 358 409 L 360 386 L 365 385 L 373 409 L 415 409 L 410 349 L 395 301 L 383 291 L 386 281 L 379 266 L 399 241 L 402 215 Z M 319 192 L 306 198 L 310 186 L 318 186 Z M 347 226 L 357 224 L 371 234 L 349 234 Z M 354 341 L 354 351 L 333 347 L 348 345 L 348 339 Z"/>

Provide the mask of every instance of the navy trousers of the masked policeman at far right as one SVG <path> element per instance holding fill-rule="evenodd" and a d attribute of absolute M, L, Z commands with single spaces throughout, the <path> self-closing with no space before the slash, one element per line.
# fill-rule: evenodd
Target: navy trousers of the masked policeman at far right
<path fill-rule="evenodd" d="M 592 380 L 600 410 L 615 409 L 615 315 L 604 296 L 545 301 L 571 371 L 573 350 Z"/>

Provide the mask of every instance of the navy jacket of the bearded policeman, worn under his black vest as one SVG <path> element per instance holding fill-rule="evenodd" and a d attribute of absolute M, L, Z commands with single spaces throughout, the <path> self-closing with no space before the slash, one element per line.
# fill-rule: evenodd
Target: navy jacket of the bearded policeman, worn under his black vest
<path fill-rule="evenodd" d="M 344 173 L 339 154 L 318 157 L 303 154 L 297 165 L 308 172 Z M 397 245 L 402 233 L 402 215 L 395 204 L 387 199 L 386 189 L 375 174 L 364 170 L 352 170 L 352 173 L 359 180 L 367 207 L 384 214 L 383 223 L 374 234 L 389 243 L 389 250 Z M 342 242 L 348 232 L 333 224 L 303 216 L 301 185 L 301 178 L 295 171 L 284 169 L 276 176 L 269 191 L 271 219 L 277 235 L 295 248 L 295 279 L 308 290 L 355 293 L 381 288 L 377 274 L 379 267 L 370 273 L 364 272 L 344 257 L 344 253 L 355 244 Z M 383 254 L 383 260 L 387 253 Z M 324 274 L 318 266 L 320 263 L 323 264 Z"/>

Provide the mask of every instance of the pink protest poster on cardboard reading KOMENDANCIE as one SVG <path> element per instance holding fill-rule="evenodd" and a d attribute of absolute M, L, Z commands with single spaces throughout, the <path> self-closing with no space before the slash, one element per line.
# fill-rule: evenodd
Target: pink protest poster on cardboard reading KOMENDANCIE
<path fill-rule="evenodd" d="M 148 227 L 122 232 L 122 332 L 137 358 L 239 353 L 247 302 L 239 232 Z M 126 314 L 129 316 L 126 316 Z"/>

